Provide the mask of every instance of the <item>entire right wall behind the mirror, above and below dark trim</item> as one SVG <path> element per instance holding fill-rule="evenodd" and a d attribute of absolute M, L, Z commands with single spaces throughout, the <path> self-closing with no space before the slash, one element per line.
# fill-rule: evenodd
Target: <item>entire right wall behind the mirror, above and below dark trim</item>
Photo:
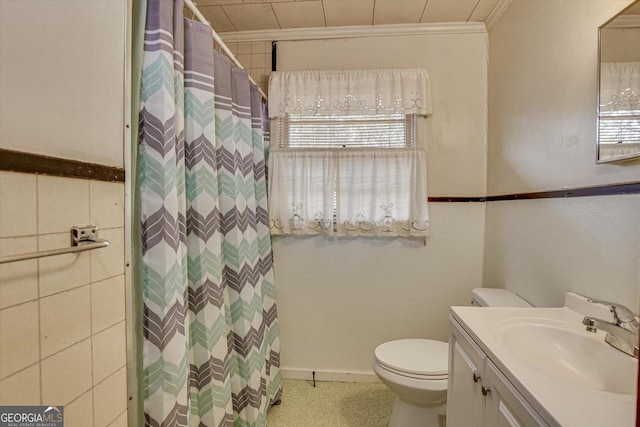
<path fill-rule="evenodd" d="M 511 2 L 489 35 L 489 195 L 638 181 L 638 161 L 595 162 L 597 28 L 629 3 Z M 639 212 L 638 194 L 488 202 L 483 285 L 637 311 Z"/>

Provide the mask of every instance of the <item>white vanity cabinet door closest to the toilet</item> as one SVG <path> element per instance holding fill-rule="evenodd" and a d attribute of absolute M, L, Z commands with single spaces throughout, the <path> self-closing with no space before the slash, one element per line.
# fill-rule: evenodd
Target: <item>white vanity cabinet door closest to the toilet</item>
<path fill-rule="evenodd" d="M 484 422 L 482 367 L 485 356 L 450 319 L 447 427 L 480 427 Z"/>

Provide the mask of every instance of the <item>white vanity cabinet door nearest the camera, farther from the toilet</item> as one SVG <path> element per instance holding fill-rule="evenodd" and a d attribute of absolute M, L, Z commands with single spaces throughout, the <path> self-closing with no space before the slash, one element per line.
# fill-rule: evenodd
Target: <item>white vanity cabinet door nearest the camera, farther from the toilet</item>
<path fill-rule="evenodd" d="M 487 427 L 547 426 L 490 360 L 485 366 L 484 384 L 489 389 L 485 402 Z"/>

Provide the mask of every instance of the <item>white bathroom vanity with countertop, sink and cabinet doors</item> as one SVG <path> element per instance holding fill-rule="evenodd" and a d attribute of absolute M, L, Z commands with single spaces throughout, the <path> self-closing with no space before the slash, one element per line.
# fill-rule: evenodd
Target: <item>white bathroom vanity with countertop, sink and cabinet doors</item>
<path fill-rule="evenodd" d="M 633 426 L 638 359 L 585 315 L 611 313 L 571 293 L 562 308 L 452 307 L 447 426 Z"/>

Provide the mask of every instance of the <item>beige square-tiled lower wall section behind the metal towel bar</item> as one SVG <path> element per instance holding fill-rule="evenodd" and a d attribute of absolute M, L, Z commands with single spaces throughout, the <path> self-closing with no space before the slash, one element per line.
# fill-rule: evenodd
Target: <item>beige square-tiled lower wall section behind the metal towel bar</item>
<path fill-rule="evenodd" d="M 124 184 L 0 172 L 0 256 L 111 245 L 0 264 L 0 405 L 64 405 L 65 426 L 126 426 Z"/>

